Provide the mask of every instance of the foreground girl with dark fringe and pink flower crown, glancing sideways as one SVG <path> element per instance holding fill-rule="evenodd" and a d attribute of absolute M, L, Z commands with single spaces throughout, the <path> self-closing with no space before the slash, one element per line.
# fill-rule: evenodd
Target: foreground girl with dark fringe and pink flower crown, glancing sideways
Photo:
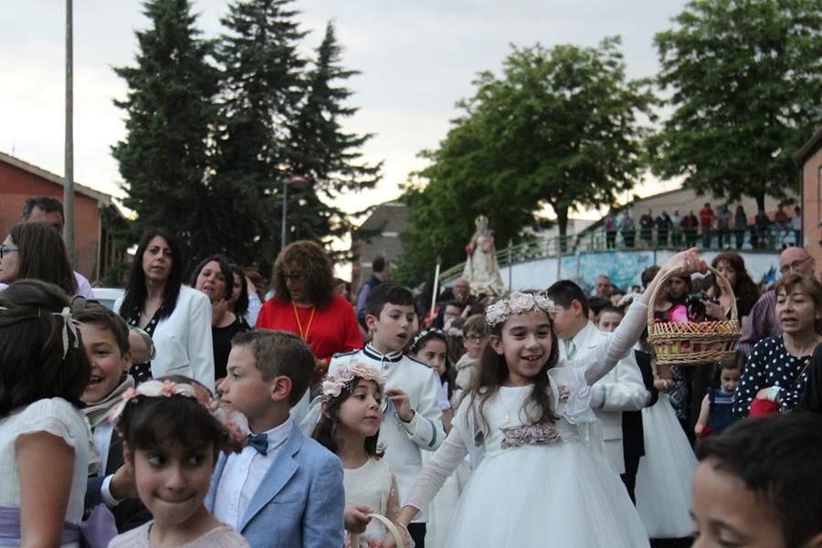
<path fill-rule="evenodd" d="M 197 381 L 181 375 L 126 390 L 109 420 L 122 437 L 122 458 L 153 520 L 116 536 L 109 548 L 248 548 L 205 508 L 221 450 L 245 436 Z"/>

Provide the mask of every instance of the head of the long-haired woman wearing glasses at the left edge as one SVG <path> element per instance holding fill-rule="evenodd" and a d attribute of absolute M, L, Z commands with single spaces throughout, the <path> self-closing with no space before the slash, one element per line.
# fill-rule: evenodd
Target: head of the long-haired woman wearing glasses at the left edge
<path fill-rule="evenodd" d="M 0 248 L 0 282 L 39 279 L 53 283 L 69 297 L 77 294 L 77 279 L 59 232 L 42 223 L 11 228 Z"/>

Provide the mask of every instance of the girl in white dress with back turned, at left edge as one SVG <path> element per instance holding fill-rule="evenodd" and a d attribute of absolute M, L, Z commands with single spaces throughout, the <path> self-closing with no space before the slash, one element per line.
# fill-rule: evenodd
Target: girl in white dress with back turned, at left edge
<path fill-rule="evenodd" d="M 79 546 L 89 376 L 62 290 L 24 279 L 0 292 L 0 546 Z"/>

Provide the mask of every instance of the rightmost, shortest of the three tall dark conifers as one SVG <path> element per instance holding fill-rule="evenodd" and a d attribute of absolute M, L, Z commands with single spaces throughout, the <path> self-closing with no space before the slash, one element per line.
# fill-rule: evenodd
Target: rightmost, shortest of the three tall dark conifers
<path fill-rule="evenodd" d="M 359 72 L 342 68 L 341 61 L 342 47 L 329 22 L 305 76 L 299 112 L 290 123 L 285 163 L 290 173 L 304 175 L 313 182 L 310 189 L 294 194 L 299 207 L 290 208 L 291 239 L 322 239 L 349 233 L 353 226 L 348 216 L 325 200 L 343 192 L 373 188 L 380 178 L 382 162 L 364 163 L 360 152 L 373 135 L 342 130 L 342 121 L 359 109 L 346 106 L 353 92 L 339 82 Z"/>

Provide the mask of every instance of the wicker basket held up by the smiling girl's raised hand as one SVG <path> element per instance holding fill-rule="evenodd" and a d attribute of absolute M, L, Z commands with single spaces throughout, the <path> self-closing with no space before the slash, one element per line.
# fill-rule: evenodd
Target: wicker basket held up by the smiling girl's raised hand
<path fill-rule="evenodd" d="M 722 321 L 654 321 L 657 295 L 665 290 L 672 271 L 659 280 L 648 304 L 648 342 L 657 356 L 657 364 L 698 365 L 719 362 L 734 355 L 733 345 L 742 336 L 731 284 L 722 274 L 708 267 L 717 284 L 731 294 L 731 319 Z"/>

